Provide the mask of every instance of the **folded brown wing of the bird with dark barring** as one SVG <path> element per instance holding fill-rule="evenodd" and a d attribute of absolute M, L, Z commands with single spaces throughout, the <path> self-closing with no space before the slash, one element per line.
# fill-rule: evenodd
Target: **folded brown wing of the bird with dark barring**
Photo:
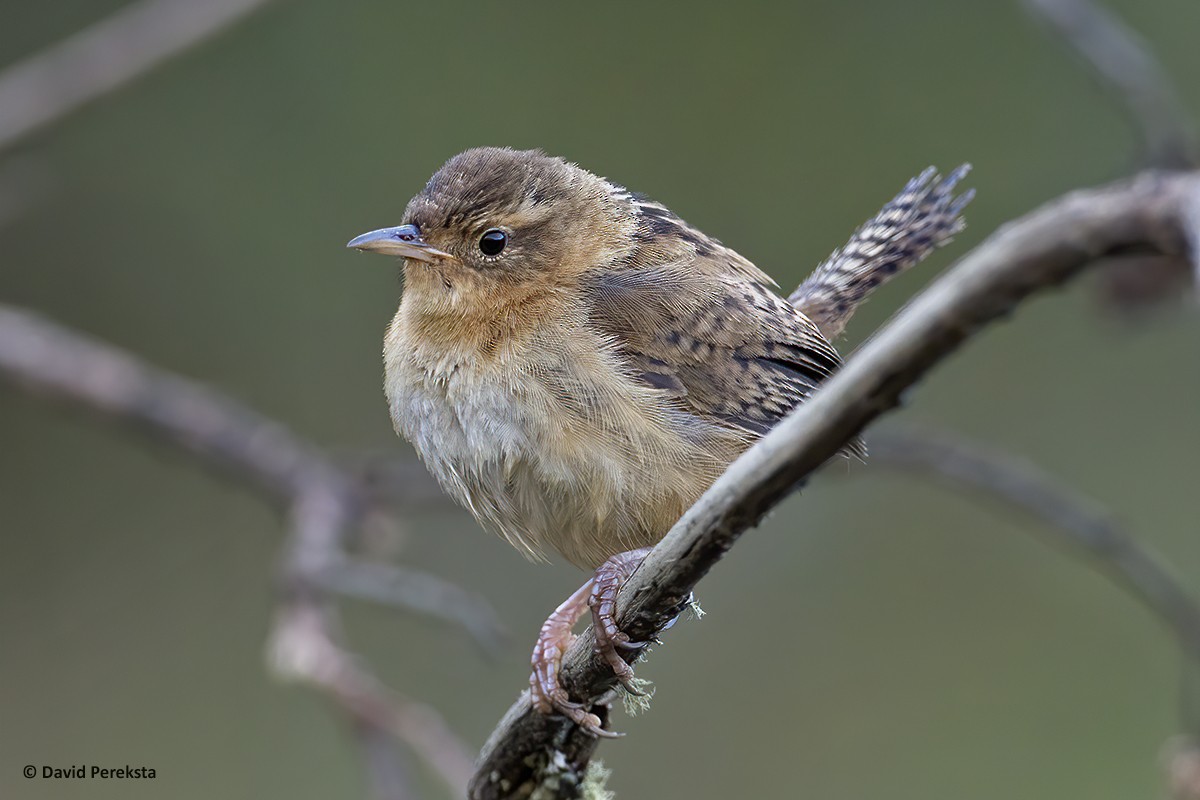
<path fill-rule="evenodd" d="M 731 261 L 719 243 L 704 254 L 659 245 L 660 257 L 690 257 L 632 259 L 586 279 L 592 323 L 636 379 L 691 414 L 757 437 L 840 366 L 816 325 L 745 269 L 749 261 Z"/>

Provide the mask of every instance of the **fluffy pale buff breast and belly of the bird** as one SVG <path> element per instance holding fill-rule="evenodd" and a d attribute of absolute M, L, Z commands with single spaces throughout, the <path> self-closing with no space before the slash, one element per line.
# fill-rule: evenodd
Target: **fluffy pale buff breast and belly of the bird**
<path fill-rule="evenodd" d="M 388 399 L 446 492 L 533 558 L 594 567 L 654 543 L 739 449 L 714 449 L 721 431 L 631 380 L 600 337 L 557 330 L 496 351 L 394 325 Z"/>

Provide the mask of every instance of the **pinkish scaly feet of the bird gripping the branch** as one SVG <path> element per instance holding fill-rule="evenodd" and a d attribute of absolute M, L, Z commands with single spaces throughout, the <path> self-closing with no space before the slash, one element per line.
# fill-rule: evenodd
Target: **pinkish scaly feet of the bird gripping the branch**
<path fill-rule="evenodd" d="M 650 548 L 647 547 L 610 558 L 600 565 L 590 581 L 580 587 L 542 624 L 538 644 L 533 649 L 533 673 L 529 675 L 534 709 L 542 714 L 557 711 L 596 736 L 623 735 L 605 730 L 600 717 L 584 709 L 582 703 L 570 699 L 559 680 L 559 672 L 563 656 L 575 640 L 571 628 L 590 608 L 596 654 L 612 668 L 625 691 L 636 696 L 646 694 L 634 679 L 634 668 L 625 662 L 622 651 L 640 651 L 648 642 L 630 642 L 629 634 L 617 625 L 616 615 L 617 591 L 649 552 Z"/>

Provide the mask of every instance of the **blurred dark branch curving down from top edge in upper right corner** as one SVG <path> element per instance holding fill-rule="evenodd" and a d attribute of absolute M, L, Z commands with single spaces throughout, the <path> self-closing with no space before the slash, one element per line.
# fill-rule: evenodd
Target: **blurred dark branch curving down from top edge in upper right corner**
<path fill-rule="evenodd" d="M 1166 71 L 1150 47 L 1116 16 L 1092 0 L 1025 0 L 1092 70 L 1141 138 L 1151 167 L 1196 164 L 1194 126 Z"/>

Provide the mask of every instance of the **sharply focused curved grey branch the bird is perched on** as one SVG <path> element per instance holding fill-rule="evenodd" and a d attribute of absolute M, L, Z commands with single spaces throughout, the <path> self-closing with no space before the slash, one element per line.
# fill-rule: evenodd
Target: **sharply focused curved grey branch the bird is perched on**
<path fill-rule="evenodd" d="M 1184 258 L 1183 205 L 1198 191 L 1193 174 L 1145 174 L 1069 194 L 996 231 L 718 479 L 622 589 L 620 627 L 634 639 L 659 631 L 745 530 L 985 324 L 1109 253 L 1136 247 Z M 578 637 L 563 672 L 574 696 L 589 703 L 613 685 L 594 644 L 590 631 Z M 527 796 L 556 753 L 583 752 L 578 769 L 588 747 L 595 747 L 588 734 L 538 715 L 522 694 L 485 747 L 470 796 Z"/>

